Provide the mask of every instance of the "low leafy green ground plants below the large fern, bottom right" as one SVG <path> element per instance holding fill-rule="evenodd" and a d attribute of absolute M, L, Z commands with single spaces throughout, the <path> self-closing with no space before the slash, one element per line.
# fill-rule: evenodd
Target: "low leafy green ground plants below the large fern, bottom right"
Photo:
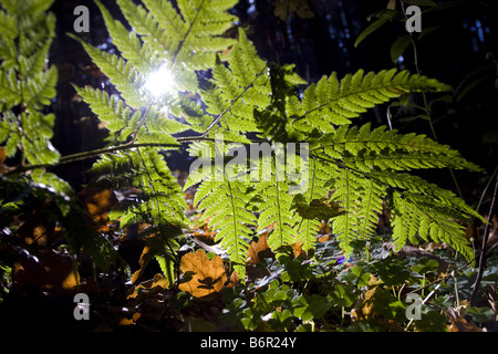
<path fill-rule="evenodd" d="M 474 308 L 458 298 L 470 296 L 476 269 L 453 262 L 452 252 L 442 249 L 437 256 L 400 259 L 382 248 L 383 238 L 371 238 L 354 246 L 349 260 L 338 257 L 336 241 L 319 242 L 313 261 L 282 256 L 259 264 L 270 275 L 249 287 L 238 285 L 224 295 L 220 327 L 245 331 L 423 331 L 457 330 L 448 325 L 448 309 L 460 309 L 477 324 L 492 323 L 494 311 Z M 495 264 L 496 259 L 491 260 Z M 444 269 L 444 271 L 442 271 Z M 278 277 L 276 277 L 278 274 Z M 485 283 L 496 279 L 487 272 Z M 455 284 L 459 285 L 455 288 Z M 408 294 L 421 299 L 421 317 L 409 320 Z M 458 321 L 461 321 L 460 323 Z M 459 327 L 464 331 L 465 327 Z"/>

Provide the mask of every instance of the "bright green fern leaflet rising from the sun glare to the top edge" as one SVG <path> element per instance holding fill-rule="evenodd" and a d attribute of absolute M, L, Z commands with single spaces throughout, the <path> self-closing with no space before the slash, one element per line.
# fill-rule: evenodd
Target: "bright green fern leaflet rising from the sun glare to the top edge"
<path fill-rule="evenodd" d="M 175 73 L 178 90 L 196 92 L 198 85 L 194 72 L 212 67 L 216 53 L 235 42 L 220 37 L 237 20 L 227 12 L 231 2 L 179 1 L 179 12 L 169 1 L 143 2 L 146 9 L 129 0 L 117 1 L 128 23 L 141 35 L 146 51 L 159 55 Z M 117 45 L 126 46 L 118 42 Z M 136 45 L 133 52 L 137 52 Z"/>

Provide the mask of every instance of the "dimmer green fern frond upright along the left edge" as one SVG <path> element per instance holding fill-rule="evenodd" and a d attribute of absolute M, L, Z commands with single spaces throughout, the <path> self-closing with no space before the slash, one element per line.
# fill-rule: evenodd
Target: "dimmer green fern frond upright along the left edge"
<path fill-rule="evenodd" d="M 0 39 L 0 143 L 7 156 L 21 152 L 22 162 L 33 165 L 59 159 L 50 143 L 55 117 L 44 112 L 58 83 L 56 69 L 45 69 L 55 25 L 55 17 L 45 13 L 51 2 L 2 1 L 0 11 L 0 28 L 13 25 Z"/>

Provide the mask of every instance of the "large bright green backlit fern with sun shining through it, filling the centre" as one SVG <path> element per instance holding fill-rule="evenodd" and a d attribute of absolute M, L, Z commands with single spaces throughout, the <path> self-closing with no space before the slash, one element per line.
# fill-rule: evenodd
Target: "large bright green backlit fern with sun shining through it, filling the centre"
<path fill-rule="evenodd" d="M 137 188 L 136 198 L 124 200 L 112 216 L 120 218 L 123 227 L 134 221 L 152 225 L 152 230 L 165 241 L 167 249 L 160 261 L 172 278 L 177 233 L 167 230 L 187 226 L 185 200 L 160 148 L 142 146 L 175 144 L 175 136 L 188 128 L 201 134 L 190 144 L 190 156 L 201 157 L 206 164 L 201 174 L 189 175 L 185 188 L 198 185 L 195 205 L 203 211 L 201 220 L 208 220 L 217 231 L 216 241 L 227 251 L 242 280 L 253 227 L 260 231 L 273 225 L 269 236 L 273 251 L 294 242 L 302 243 L 309 251 L 314 247 L 321 219 L 331 219 L 341 248 L 349 253 L 353 240 L 367 239 L 374 233 L 385 200 L 393 210 L 396 249 L 419 236 L 446 242 L 467 258 L 471 257 L 461 239 L 461 227 L 455 220 L 477 217 L 477 212 L 452 192 L 401 171 L 447 167 L 480 170 L 479 167 L 424 135 L 398 134 L 385 127 L 372 129 L 370 124 L 351 125 L 354 117 L 367 110 L 406 93 L 440 92 L 449 86 L 407 71 L 365 74 L 360 70 L 342 80 L 336 73 L 323 76 L 309 85 L 300 98 L 297 86 L 305 82 L 291 65 L 268 64 L 241 29 L 238 40 L 222 37 L 237 20 L 228 11 L 236 0 L 178 0 L 174 3 L 142 0 L 142 3 L 117 0 L 133 28 L 128 33 L 125 24 L 115 21 L 97 1 L 118 54 L 83 43 L 121 97 L 93 88 L 77 91 L 118 143 L 132 138 L 132 143 L 141 145 L 102 156 L 93 170 L 107 174 L 116 185 L 127 183 Z M 11 21 L 0 14 L 0 29 Z M 14 32 L 10 31 L 8 38 L 12 35 Z M 23 86 L 11 84 L 15 76 L 10 71 L 18 67 L 12 48 L 8 44 L 0 50 L 0 54 L 6 53 L 0 76 L 0 93 L 4 92 L 6 98 L 0 100 L 10 108 L 0 125 L 0 138 L 7 140 L 10 153 L 15 153 L 12 146 L 21 144 L 22 138 L 12 137 L 7 123 L 24 118 L 12 116 L 11 112 L 27 93 Z M 220 53 L 228 49 L 228 54 Z M 43 50 L 38 48 L 40 53 Z M 23 61 L 25 67 L 39 66 L 34 54 Z M 153 100 L 143 85 L 159 66 L 167 67 L 175 76 L 174 91 L 193 94 L 178 97 L 165 94 Z M 199 86 L 198 71 L 210 71 L 207 88 Z M 44 91 L 31 90 L 31 93 L 37 92 Z M 33 101 L 43 104 L 45 98 L 41 95 Z M 165 107 L 168 113 L 164 113 Z M 170 119 L 172 116 L 179 119 Z M 303 177 L 305 180 L 293 180 L 289 176 L 278 178 L 278 157 L 272 152 L 269 180 L 234 179 L 234 175 L 247 173 L 247 162 L 242 159 L 240 166 L 232 164 L 239 162 L 240 156 L 219 160 L 216 143 L 200 143 L 217 139 L 218 134 L 226 140 L 246 144 L 251 143 L 249 137 L 253 135 L 269 143 L 309 142 L 310 162 L 298 163 L 307 165 L 309 177 Z M 221 148 L 227 155 L 228 147 Z M 218 165 L 212 167 L 212 160 Z M 258 164 L 262 166 L 263 159 L 258 159 Z M 302 190 L 297 191 L 300 183 Z M 303 212 L 314 207 L 326 212 Z M 334 212 L 330 212 L 332 210 Z M 258 218 L 253 211 L 259 211 Z"/>

